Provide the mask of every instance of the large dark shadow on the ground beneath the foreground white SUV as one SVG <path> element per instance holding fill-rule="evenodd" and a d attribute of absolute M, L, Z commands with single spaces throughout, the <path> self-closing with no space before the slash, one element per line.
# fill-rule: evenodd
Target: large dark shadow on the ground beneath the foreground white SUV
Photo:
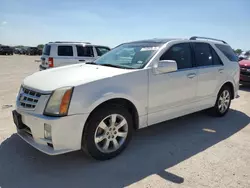
<path fill-rule="evenodd" d="M 182 183 L 185 177 L 165 169 L 227 139 L 249 122 L 236 110 L 222 118 L 195 113 L 137 131 L 120 156 L 104 162 L 83 152 L 48 156 L 13 134 L 0 145 L 0 186 L 124 187 L 152 174 Z"/>

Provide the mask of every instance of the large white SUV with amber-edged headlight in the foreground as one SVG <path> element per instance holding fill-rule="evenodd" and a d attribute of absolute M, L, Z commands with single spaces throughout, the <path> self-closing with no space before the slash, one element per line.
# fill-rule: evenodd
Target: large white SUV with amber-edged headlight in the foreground
<path fill-rule="evenodd" d="M 49 155 L 84 149 L 106 160 L 136 129 L 204 109 L 224 116 L 237 57 L 224 41 L 197 39 L 125 43 L 95 62 L 34 73 L 13 111 L 18 134 Z"/>

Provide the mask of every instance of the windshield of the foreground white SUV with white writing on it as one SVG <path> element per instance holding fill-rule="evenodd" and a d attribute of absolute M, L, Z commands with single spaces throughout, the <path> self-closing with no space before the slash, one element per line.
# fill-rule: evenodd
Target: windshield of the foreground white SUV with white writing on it
<path fill-rule="evenodd" d="M 99 65 L 113 65 L 120 68 L 143 68 L 157 52 L 161 43 L 122 44 L 95 61 Z"/>

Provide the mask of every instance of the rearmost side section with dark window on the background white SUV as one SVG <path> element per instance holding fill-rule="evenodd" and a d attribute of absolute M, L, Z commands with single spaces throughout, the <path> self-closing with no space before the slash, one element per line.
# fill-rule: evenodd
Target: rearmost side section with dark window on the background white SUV
<path fill-rule="evenodd" d="M 71 65 L 77 63 L 74 57 L 74 49 L 72 45 L 58 45 L 57 56 L 54 57 L 54 67 Z"/>

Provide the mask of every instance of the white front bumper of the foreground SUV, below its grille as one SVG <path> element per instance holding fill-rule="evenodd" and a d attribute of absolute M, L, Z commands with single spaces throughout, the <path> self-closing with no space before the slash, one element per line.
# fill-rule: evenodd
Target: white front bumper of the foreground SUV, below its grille
<path fill-rule="evenodd" d="M 87 114 L 65 117 L 48 117 L 18 111 L 23 124 L 30 133 L 17 128 L 18 135 L 36 149 L 48 154 L 58 155 L 81 149 L 82 132 Z M 52 140 L 44 138 L 44 124 L 51 125 Z"/>

